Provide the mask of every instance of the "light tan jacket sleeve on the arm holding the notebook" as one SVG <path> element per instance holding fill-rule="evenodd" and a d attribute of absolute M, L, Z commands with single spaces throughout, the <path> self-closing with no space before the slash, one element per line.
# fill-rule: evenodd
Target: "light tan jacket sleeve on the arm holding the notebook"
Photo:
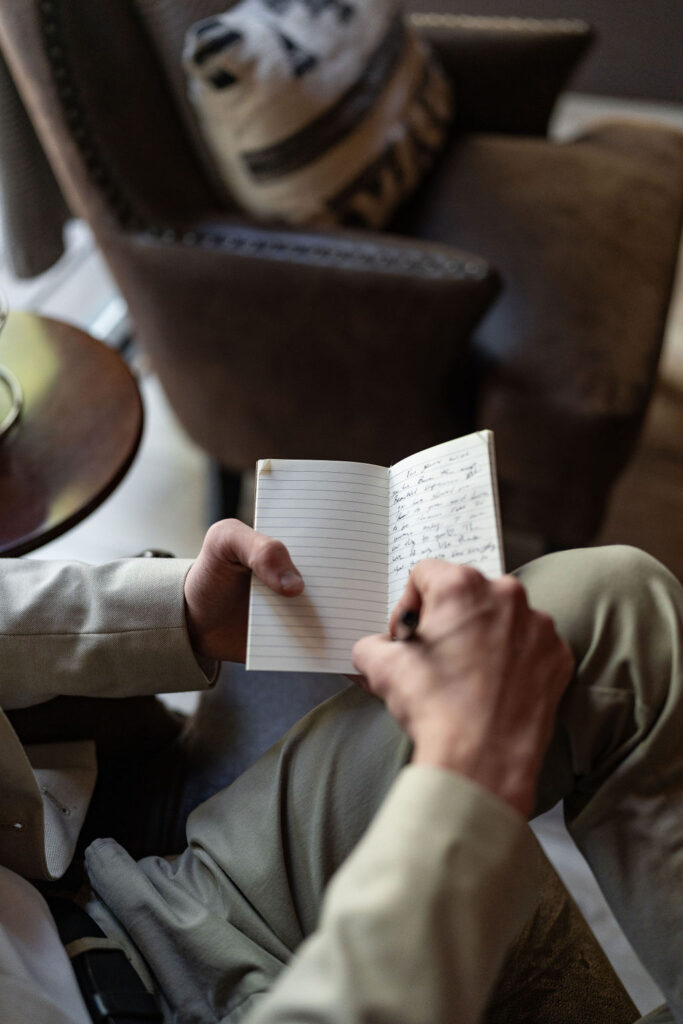
<path fill-rule="evenodd" d="M 190 564 L 0 560 L 0 708 L 205 688 L 185 629 Z"/>

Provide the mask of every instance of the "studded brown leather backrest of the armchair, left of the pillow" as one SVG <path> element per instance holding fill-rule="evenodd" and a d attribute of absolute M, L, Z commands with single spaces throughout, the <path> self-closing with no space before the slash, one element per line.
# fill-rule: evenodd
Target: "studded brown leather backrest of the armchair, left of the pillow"
<path fill-rule="evenodd" d="M 220 207 L 131 0 L 5 6 L 12 70 L 75 211 L 135 229 Z M 11 61 L 22 38 L 29 63 Z"/>

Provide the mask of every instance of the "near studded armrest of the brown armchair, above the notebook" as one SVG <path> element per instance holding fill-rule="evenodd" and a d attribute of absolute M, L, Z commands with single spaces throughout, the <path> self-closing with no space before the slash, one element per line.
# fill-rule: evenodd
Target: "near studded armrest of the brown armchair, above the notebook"
<path fill-rule="evenodd" d="M 257 458 L 386 465 L 460 427 L 451 388 L 496 272 L 449 246 L 216 220 L 108 255 L 189 434 Z"/>

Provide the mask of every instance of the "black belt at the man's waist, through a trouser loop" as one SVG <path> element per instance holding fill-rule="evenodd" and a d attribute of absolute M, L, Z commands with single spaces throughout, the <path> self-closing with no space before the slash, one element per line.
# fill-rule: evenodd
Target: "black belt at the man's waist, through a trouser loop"
<path fill-rule="evenodd" d="M 45 896 L 65 946 L 79 939 L 105 939 L 101 928 L 80 906 L 61 896 Z M 69 952 L 69 949 L 67 950 Z M 95 947 L 71 956 L 83 999 L 94 1024 L 163 1021 L 155 996 L 146 990 L 123 949 Z"/>

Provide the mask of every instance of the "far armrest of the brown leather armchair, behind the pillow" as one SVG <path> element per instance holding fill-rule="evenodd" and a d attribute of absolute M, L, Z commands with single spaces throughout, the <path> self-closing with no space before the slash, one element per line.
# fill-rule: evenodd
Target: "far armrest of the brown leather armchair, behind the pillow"
<path fill-rule="evenodd" d="M 585 22 L 413 14 L 455 86 L 459 131 L 544 135 L 594 38 Z"/>

